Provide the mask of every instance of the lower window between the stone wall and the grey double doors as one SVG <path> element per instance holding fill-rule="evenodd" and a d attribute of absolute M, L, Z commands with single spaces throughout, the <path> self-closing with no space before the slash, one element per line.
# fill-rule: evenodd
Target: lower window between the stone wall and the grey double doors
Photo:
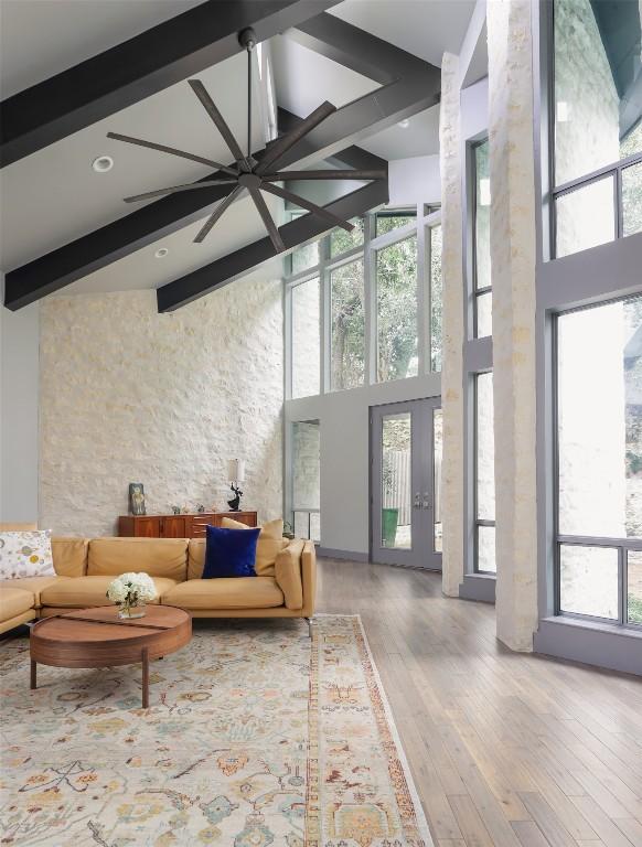
<path fill-rule="evenodd" d="M 318 420 L 292 424 L 292 530 L 321 539 L 321 428 Z"/>

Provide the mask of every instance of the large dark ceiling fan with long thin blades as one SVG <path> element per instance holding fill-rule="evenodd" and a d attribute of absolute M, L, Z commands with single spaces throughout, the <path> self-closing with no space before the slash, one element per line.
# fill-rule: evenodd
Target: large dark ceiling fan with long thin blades
<path fill-rule="evenodd" d="M 235 159 L 235 164 L 228 167 L 202 156 L 195 156 L 194 153 L 189 153 L 184 150 L 167 147 L 165 144 L 157 144 L 153 141 L 145 141 L 143 139 L 122 136 L 118 132 L 108 132 L 107 137 L 113 138 L 116 141 L 125 141 L 128 144 L 138 144 L 139 147 L 147 147 L 163 153 L 179 156 L 182 159 L 190 159 L 193 162 L 207 164 L 210 168 L 215 168 L 221 171 L 221 176 L 215 180 L 202 180 L 201 182 L 191 182 L 184 185 L 172 185 L 168 189 L 148 191 L 145 194 L 136 194 L 131 197 L 125 197 L 125 202 L 137 203 L 139 201 L 151 200 L 152 197 L 160 197 L 165 194 L 175 194 L 182 191 L 208 189 L 212 185 L 228 185 L 229 193 L 218 203 L 194 238 L 194 243 L 197 244 L 203 242 L 224 212 L 245 191 L 252 196 L 277 253 L 282 253 L 286 249 L 286 245 L 282 242 L 279 229 L 267 207 L 261 192 L 267 192 L 281 200 L 288 200 L 301 208 L 307 208 L 309 212 L 323 218 L 333 226 L 341 226 L 343 229 L 351 232 L 354 229 L 354 225 L 350 222 L 343 221 L 341 217 L 328 212 L 328 210 L 322 206 L 311 203 L 309 200 L 306 200 L 306 197 L 301 197 L 299 194 L 295 194 L 276 183 L 287 182 L 288 180 L 385 180 L 387 175 L 385 170 L 279 171 L 278 163 L 282 160 L 286 153 L 314 129 L 314 127 L 319 126 L 319 124 L 325 120 L 332 112 L 336 111 L 336 107 L 327 100 L 308 115 L 308 117 L 304 118 L 291 132 L 281 136 L 267 147 L 259 160 L 255 159 L 252 154 L 252 51 L 256 46 L 254 30 L 249 28 L 243 30 L 238 34 L 238 41 L 247 51 L 247 153 L 244 153 L 240 149 L 240 144 L 232 135 L 229 127 L 214 105 L 214 101 L 207 94 L 203 83 L 200 79 L 189 79 L 188 82 L 192 87 L 192 90 L 201 100 L 205 111 L 223 136 L 225 143 Z"/>

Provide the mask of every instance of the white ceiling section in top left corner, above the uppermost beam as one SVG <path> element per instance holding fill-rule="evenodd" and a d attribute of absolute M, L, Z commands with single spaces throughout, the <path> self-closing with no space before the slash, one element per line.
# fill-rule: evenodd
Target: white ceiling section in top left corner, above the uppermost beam
<path fill-rule="evenodd" d="M 2 99 L 203 0 L 1 0 Z"/>

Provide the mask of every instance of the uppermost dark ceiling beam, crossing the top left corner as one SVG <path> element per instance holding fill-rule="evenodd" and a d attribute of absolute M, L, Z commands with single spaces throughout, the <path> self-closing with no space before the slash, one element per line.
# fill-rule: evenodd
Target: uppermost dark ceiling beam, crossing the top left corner
<path fill-rule="evenodd" d="M 339 0 L 207 0 L 0 104 L 0 165 L 186 79 Z M 36 25 L 34 21 L 34 25 Z"/>

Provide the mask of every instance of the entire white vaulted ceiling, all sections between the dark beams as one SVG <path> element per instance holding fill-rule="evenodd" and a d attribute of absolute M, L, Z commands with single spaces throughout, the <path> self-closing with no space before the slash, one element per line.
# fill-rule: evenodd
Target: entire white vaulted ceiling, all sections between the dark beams
<path fill-rule="evenodd" d="M 132 37 L 199 0 L 0 0 L 2 97 Z M 458 52 L 474 0 L 345 0 L 334 7 L 356 26 L 436 65 L 445 50 Z M 299 45 L 287 34 L 270 42 L 278 105 L 306 116 L 322 100 L 344 106 L 377 84 Z M 205 83 L 242 146 L 246 139 L 246 71 L 239 54 L 197 75 Z M 264 120 L 255 97 L 253 147 L 260 149 Z M 385 159 L 438 151 L 439 108 L 360 140 Z M 204 165 L 106 138 L 107 131 L 138 136 L 229 162 L 232 156 L 186 82 L 124 109 L 22 159 L 0 172 L 0 267 L 10 270 L 104 226 L 139 205 L 122 197 L 192 182 Z M 92 161 L 115 160 L 107 174 Z M 281 213 L 272 200 L 275 216 Z M 206 217 L 204 213 L 203 218 Z M 159 286 L 265 235 L 254 205 L 235 203 L 202 245 L 192 244 L 194 223 L 65 288 L 62 293 Z M 156 259 L 158 247 L 168 247 Z"/>

